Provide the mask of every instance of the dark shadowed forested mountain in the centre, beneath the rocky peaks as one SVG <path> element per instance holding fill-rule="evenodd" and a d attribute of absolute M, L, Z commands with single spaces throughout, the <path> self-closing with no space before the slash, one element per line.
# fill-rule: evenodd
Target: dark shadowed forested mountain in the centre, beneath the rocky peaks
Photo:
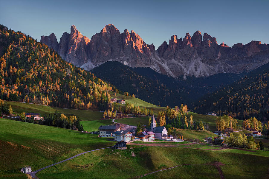
<path fill-rule="evenodd" d="M 117 61 L 105 62 L 90 71 L 120 90 L 155 105 L 191 106 L 207 93 L 238 80 L 239 74 L 216 74 L 210 77 L 172 78 L 159 74 L 149 67 L 129 67 Z"/>

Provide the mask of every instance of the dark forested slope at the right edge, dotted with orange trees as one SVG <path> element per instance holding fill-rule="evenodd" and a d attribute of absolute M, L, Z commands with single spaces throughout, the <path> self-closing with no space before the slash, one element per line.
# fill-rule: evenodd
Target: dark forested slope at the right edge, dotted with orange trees
<path fill-rule="evenodd" d="M 194 105 L 197 113 L 229 114 L 236 119 L 269 119 L 269 63 L 237 82 L 203 96 Z"/>

